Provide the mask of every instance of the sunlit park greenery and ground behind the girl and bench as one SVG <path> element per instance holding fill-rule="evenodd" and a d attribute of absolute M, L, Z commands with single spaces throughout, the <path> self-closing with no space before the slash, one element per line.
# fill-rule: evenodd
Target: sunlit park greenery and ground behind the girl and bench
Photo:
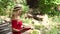
<path fill-rule="evenodd" d="M 22 6 L 23 23 L 34 28 L 30 34 L 60 34 L 60 0 L 0 0 L 0 24 L 16 4 Z"/>

